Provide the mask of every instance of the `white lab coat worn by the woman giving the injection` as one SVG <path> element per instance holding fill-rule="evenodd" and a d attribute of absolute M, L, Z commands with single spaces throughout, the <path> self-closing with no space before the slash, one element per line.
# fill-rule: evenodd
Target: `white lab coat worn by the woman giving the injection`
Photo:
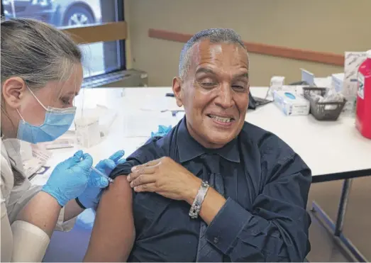
<path fill-rule="evenodd" d="M 40 191 L 26 178 L 14 186 L 13 169 L 24 176 L 19 147 L 14 141 L 1 140 L 1 262 L 41 262 L 49 245 L 48 235 L 31 223 L 16 220 L 18 213 Z M 60 211 L 55 230 L 72 229 L 75 218 L 63 222 L 64 208 Z"/>

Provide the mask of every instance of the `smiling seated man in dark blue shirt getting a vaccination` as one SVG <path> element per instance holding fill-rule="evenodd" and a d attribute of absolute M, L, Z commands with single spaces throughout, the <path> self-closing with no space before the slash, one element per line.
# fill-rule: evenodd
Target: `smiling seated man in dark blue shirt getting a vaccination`
<path fill-rule="evenodd" d="M 276 135 L 245 122 L 248 72 L 248 52 L 233 30 L 204 30 L 184 45 L 172 89 L 185 117 L 111 174 L 119 179 L 113 185 L 133 187 L 136 236 L 129 262 L 306 257 L 311 171 Z M 124 244 L 132 231 L 125 220 L 131 211 L 117 211 L 124 200 L 114 191 L 110 186 L 102 197 L 101 231 L 93 231 L 100 246 L 107 244 L 101 253 L 111 257 L 119 253 L 111 245 Z"/>

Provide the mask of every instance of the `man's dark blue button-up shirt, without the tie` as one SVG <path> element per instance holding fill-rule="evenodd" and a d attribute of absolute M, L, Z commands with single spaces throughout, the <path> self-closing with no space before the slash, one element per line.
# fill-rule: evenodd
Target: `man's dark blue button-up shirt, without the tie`
<path fill-rule="evenodd" d="M 235 140 L 209 150 L 189 135 L 184 118 L 165 137 L 136 150 L 111 177 L 164 156 L 202 177 L 199 157 L 204 153 L 221 156 L 227 201 L 208 226 L 206 239 L 224 261 L 303 261 L 310 250 L 306 201 L 311 171 L 287 144 L 255 125 L 245 123 Z M 185 201 L 133 192 L 136 237 L 128 261 L 194 262 L 202 219 L 189 218 L 189 208 Z"/>

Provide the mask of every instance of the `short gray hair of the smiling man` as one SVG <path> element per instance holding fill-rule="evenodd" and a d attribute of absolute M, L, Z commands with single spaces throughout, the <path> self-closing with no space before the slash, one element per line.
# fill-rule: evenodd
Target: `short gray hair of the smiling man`
<path fill-rule="evenodd" d="M 201 40 L 209 40 L 211 43 L 232 43 L 246 49 L 241 37 L 235 30 L 229 28 L 210 28 L 196 33 L 187 43 L 185 43 L 179 58 L 179 77 L 184 78 L 189 69 L 189 50 L 194 44 Z"/>

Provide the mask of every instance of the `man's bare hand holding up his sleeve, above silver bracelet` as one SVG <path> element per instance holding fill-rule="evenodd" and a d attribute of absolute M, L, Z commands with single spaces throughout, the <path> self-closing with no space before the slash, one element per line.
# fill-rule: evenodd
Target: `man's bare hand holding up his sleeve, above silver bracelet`
<path fill-rule="evenodd" d="M 201 179 L 169 157 L 135 166 L 127 180 L 135 192 L 156 192 L 167 198 L 192 203 Z"/>

